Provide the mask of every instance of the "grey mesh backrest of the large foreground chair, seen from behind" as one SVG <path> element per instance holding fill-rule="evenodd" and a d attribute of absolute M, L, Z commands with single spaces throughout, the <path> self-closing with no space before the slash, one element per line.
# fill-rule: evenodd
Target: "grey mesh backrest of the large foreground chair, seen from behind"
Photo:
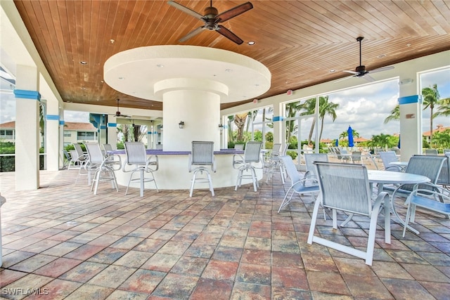
<path fill-rule="evenodd" d="M 314 164 L 323 207 L 371 215 L 371 189 L 366 166 L 335 162 Z"/>

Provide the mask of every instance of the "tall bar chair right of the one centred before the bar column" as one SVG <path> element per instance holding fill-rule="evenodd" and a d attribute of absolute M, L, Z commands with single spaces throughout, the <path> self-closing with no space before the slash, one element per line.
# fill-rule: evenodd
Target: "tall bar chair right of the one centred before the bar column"
<path fill-rule="evenodd" d="M 233 168 L 239 170 L 234 190 L 238 190 L 238 186 L 242 185 L 243 179 L 252 180 L 255 192 L 259 188 L 255 164 L 259 163 L 261 159 L 259 155 L 261 147 L 262 142 L 249 141 L 245 144 L 244 156 L 239 154 L 233 155 Z M 244 172 L 250 172 L 250 174 L 244 174 Z"/>

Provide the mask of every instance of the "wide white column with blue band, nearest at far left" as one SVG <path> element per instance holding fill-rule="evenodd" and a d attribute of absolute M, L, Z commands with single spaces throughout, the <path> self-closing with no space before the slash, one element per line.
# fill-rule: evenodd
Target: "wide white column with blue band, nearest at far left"
<path fill-rule="evenodd" d="M 17 65 L 15 105 L 15 190 L 39 188 L 39 100 L 36 67 Z"/>

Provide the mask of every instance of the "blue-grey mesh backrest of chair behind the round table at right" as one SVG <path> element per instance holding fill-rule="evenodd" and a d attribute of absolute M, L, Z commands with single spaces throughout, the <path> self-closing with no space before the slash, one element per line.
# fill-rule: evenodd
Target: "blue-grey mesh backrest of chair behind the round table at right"
<path fill-rule="evenodd" d="M 430 178 L 430 183 L 436 184 L 446 157 L 439 155 L 413 155 L 405 169 L 406 173 L 418 174 Z M 403 190 L 413 190 L 414 185 L 403 185 Z M 428 189 L 429 186 L 418 185 L 418 188 Z"/>

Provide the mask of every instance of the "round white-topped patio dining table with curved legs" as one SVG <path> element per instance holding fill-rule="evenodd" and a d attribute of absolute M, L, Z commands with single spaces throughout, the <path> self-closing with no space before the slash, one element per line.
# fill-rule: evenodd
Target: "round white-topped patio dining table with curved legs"
<path fill-rule="evenodd" d="M 430 178 L 418 174 L 404 173 L 404 172 L 394 172 L 394 171 L 383 171 L 383 170 L 367 170 L 368 181 L 373 183 L 378 183 L 378 193 L 383 191 L 384 184 L 416 184 L 416 183 L 427 183 L 430 182 Z M 391 196 L 392 197 L 392 196 Z M 397 209 L 394 206 L 394 199 L 390 199 L 389 204 L 385 204 L 390 206 L 390 210 L 395 214 L 397 219 L 399 219 L 402 225 L 405 225 L 405 222 L 400 218 Z M 418 231 L 411 226 L 408 226 L 409 229 L 413 230 L 413 232 L 418 233 Z M 390 228 L 385 228 L 385 230 L 389 230 Z M 390 235 L 389 235 L 390 236 Z M 390 240 L 389 240 L 390 242 Z"/>

